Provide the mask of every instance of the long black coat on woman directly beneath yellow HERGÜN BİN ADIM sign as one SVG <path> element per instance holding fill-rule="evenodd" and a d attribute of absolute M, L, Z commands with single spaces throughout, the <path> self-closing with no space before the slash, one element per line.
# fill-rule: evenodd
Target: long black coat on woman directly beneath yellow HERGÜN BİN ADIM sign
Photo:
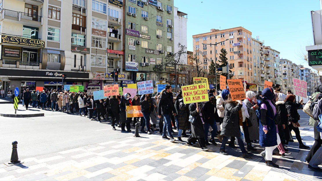
<path fill-rule="evenodd" d="M 199 113 L 203 113 L 202 104 L 198 103 Z M 194 104 L 189 105 L 189 112 L 191 116 L 196 117 L 196 122 L 191 124 L 191 135 L 193 138 L 204 138 L 204 125 L 201 121 L 200 114 L 196 111 L 196 106 Z"/>

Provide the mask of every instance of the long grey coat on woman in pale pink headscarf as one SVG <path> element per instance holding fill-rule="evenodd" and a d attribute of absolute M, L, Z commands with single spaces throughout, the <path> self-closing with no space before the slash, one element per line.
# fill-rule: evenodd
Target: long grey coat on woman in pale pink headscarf
<path fill-rule="evenodd" d="M 246 104 L 247 111 L 249 114 L 248 122 L 251 122 L 252 125 L 251 127 L 248 127 L 249 138 L 250 140 L 258 140 L 260 134 L 258 130 L 256 111 L 253 108 L 254 105 L 247 98 L 244 100 L 244 103 Z"/>

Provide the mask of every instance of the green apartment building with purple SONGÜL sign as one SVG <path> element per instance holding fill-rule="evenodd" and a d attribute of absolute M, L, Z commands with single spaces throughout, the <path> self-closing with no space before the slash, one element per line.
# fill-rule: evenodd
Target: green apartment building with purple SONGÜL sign
<path fill-rule="evenodd" d="M 125 7 L 125 71 L 132 80 L 159 80 L 153 68 L 165 64 L 174 52 L 174 2 L 129 0 Z M 164 65 L 162 79 L 168 80 L 173 66 Z"/>

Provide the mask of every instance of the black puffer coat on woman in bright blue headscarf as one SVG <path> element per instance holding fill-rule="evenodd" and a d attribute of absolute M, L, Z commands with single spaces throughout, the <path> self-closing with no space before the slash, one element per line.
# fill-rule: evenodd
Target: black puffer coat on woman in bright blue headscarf
<path fill-rule="evenodd" d="M 242 104 L 225 103 L 225 112 L 223 118 L 222 136 L 240 137 L 240 126 L 238 112 L 242 109 Z"/>

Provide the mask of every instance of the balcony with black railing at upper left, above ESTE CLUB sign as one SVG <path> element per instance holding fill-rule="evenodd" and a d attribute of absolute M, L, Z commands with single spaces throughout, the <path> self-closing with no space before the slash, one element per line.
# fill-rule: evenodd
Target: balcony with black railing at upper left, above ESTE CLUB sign
<path fill-rule="evenodd" d="M 9 9 L 3 9 L 1 11 L 1 20 L 7 20 L 10 22 L 17 23 L 33 27 L 40 27 L 42 23 L 42 17 L 34 14 L 28 14 L 24 12 L 12 11 Z"/>

